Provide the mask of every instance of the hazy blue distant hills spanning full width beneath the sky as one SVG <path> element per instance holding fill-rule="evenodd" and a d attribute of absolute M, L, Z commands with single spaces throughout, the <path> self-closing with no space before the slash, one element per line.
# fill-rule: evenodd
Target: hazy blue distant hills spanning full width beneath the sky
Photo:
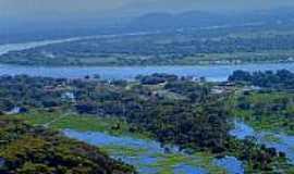
<path fill-rule="evenodd" d="M 89 13 L 90 14 L 90 13 Z M 89 14 L 87 16 L 89 16 Z M 184 11 L 180 13 L 154 12 L 138 16 L 94 14 L 91 17 L 54 18 L 0 18 L 1 42 L 54 39 L 62 37 L 121 34 L 136 32 L 170 30 L 181 28 L 229 27 L 243 25 L 291 25 L 294 18 L 292 8 L 246 12 Z"/>

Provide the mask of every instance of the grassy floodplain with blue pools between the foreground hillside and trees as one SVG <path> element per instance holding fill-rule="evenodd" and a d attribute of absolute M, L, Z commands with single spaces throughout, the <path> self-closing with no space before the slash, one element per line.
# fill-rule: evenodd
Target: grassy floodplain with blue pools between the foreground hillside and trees
<path fill-rule="evenodd" d="M 41 111 L 14 116 L 35 126 L 46 125 L 56 120 L 49 125 L 50 128 L 62 130 L 70 138 L 99 146 L 111 157 L 135 165 L 144 174 L 158 172 L 162 174 L 225 172 L 224 166 L 218 164 L 215 157 L 209 152 L 186 154 L 172 147 L 167 152 L 168 148 L 152 140 L 147 133 L 130 133 L 127 124 L 114 117 L 73 113 L 64 116 L 62 112 L 49 113 Z M 113 129 L 113 125 L 118 123 L 120 123 L 120 128 Z M 234 164 L 234 161 L 232 161 L 232 164 Z M 236 169 L 242 171 L 242 166 L 235 166 Z"/>

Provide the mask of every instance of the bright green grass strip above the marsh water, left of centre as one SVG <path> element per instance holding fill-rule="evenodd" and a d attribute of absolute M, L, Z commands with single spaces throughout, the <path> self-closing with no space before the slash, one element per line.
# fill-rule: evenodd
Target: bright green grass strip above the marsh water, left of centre
<path fill-rule="evenodd" d="M 128 124 L 115 116 L 102 117 L 93 115 L 78 115 L 63 112 L 32 111 L 25 114 L 15 115 L 32 125 L 46 125 L 53 129 L 76 129 L 81 132 L 102 132 L 110 135 L 127 135 L 136 138 L 149 138 L 150 135 L 143 133 L 130 133 Z M 112 127 L 120 124 L 119 129 Z"/>

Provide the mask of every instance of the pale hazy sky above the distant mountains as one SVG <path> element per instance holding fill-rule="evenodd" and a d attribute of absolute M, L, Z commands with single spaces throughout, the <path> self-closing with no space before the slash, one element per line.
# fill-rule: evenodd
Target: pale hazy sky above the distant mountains
<path fill-rule="evenodd" d="M 145 13 L 184 10 L 258 10 L 293 7 L 294 0 L 0 0 L 0 16 Z"/>

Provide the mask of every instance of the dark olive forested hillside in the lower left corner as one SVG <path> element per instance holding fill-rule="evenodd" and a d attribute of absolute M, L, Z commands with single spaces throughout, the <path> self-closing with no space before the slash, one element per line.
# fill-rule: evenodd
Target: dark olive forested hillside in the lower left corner
<path fill-rule="evenodd" d="M 1 174 L 133 174 L 97 147 L 0 115 Z"/>

